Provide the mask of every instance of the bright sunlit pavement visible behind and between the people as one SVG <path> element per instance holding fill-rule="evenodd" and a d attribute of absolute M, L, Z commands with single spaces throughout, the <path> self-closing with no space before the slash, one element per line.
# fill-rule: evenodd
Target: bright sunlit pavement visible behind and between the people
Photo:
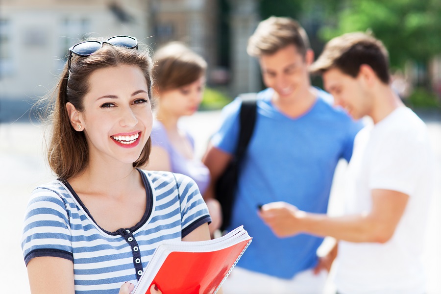
<path fill-rule="evenodd" d="M 185 119 L 194 132 L 196 153 L 202 156 L 210 134 L 217 128 L 219 112 L 199 112 Z M 441 114 L 422 113 L 428 124 L 436 151 L 437 178 L 441 178 Z M 339 210 L 339 190 L 345 166 L 340 164 L 332 191 L 331 210 Z M 20 237 L 25 207 L 38 183 L 52 179 L 43 152 L 43 128 L 30 123 L 0 123 L 0 223 L 3 238 L 0 244 L 0 284 L 13 285 L 14 293 L 29 294 Z M 424 262 L 428 273 L 428 294 L 441 294 L 441 181 L 431 206 L 428 242 Z M 6 284 L 7 283 L 7 284 Z M 332 283 L 326 294 L 332 293 Z"/>

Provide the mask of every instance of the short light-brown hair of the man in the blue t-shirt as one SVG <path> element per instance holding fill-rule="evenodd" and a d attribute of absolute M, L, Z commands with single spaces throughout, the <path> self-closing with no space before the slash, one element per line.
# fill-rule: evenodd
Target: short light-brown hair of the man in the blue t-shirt
<path fill-rule="evenodd" d="M 309 46 L 306 31 L 291 18 L 274 17 L 262 21 L 248 39 L 246 51 L 250 56 L 272 55 L 280 49 L 294 45 L 305 56 Z"/>

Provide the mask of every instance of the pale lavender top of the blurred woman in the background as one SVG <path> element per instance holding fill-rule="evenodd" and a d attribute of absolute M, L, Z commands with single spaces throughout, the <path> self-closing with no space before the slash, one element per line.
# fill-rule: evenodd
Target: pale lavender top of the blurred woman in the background
<path fill-rule="evenodd" d="M 185 133 L 194 150 L 195 140 L 188 132 Z M 196 182 L 200 193 L 203 195 L 210 182 L 210 171 L 208 168 L 199 159 L 186 158 L 176 150 L 167 136 L 167 130 L 164 124 L 161 122 L 153 120 L 153 128 L 150 137 L 152 146 L 162 147 L 169 154 L 172 172 L 182 173 L 191 177 Z"/>

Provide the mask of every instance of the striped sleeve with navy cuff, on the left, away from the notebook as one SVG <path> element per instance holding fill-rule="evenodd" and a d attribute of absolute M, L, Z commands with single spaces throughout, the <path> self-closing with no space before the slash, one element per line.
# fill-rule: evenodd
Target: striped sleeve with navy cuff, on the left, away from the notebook
<path fill-rule="evenodd" d="M 49 188 L 35 189 L 27 205 L 21 240 L 25 264 L 39 256 L 73 261 L 69 222 L 62 196 Z"/>

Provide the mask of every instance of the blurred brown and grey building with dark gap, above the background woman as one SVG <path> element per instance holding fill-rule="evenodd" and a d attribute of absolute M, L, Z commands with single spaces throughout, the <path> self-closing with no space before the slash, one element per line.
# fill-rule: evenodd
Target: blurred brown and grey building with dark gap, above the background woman
<path fill-rule="evenodd" d="M 207 60 L 209 85 L 226 88 L 231 96 L 260 89 L 257 61 L 246 53 L 259 22 L 257 0 L 150 0 L 149 14 L 154 49 L 182 41 Z"/>

